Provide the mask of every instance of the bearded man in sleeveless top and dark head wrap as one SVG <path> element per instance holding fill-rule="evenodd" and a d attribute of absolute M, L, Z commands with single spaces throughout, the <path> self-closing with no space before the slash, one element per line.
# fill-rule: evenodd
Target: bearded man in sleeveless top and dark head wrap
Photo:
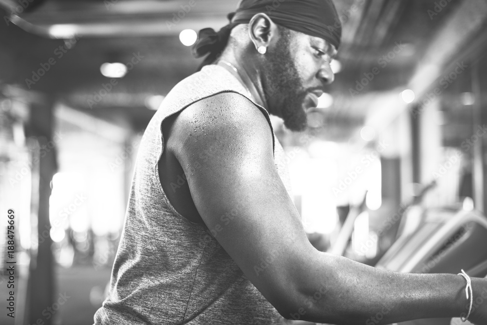
<path fill-rule="evenodd" d="M 95 324 L 481 322 L 486 307 L 467 315 L 460 275 L 379 270 L 306 237 L 268 113 L 303 130 L 333 81 L 331 0 L 243 0 L 229 18 L 200 33 L 194 50 L 208 65 L 175 86 L 145 132 Z M 487 290 L 471 284 L 473 299 Z"/>

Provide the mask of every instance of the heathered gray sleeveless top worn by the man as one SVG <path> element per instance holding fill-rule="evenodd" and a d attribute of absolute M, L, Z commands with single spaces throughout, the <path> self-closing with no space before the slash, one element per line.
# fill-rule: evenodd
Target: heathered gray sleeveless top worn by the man
<path fill-rule="evenodd" d="M 172 207 L 159 180 L 162 121 L 224 92 L 252 100 L 225 68 L 208 65 L 178 83 L 151 119 L 137 154 L 110 290 L 94 315 L 95 325 L 282 324 L 281 315 L 205 225 L 189 222 Z M 267 111 L 254 104 L 269 121 Z M 270 121 L 269 127 L 273 132 Z M 285 154 L 275 135 L 274 159 L 292 195 Z"/>

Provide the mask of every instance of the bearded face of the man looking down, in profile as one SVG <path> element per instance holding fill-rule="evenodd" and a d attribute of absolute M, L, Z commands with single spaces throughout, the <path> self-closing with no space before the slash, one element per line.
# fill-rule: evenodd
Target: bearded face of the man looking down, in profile
<path fill-rule="evenodd" d="M 335 48 L 322 38 L 280 28 L 276 46 L 266 55 L 263 86 L 269 112 L 292 131 L 304 131 L 306 111 L 318 105 L 323 86 L 333 82 L 330 61 Z"/>

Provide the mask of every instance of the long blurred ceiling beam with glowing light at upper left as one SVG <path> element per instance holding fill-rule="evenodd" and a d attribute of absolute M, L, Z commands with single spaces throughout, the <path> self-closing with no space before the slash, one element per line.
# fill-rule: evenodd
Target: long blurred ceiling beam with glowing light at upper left
<path fill-rule="evenodd" d="M 185 29 L 219 30 L 236 4 L 236 0 L 46 1 L 25 12 L 16 11 L 18 3 L 13 0 L 0 0 L 11 22 L 46 38 L 154 37 L 179 35 Z"/>

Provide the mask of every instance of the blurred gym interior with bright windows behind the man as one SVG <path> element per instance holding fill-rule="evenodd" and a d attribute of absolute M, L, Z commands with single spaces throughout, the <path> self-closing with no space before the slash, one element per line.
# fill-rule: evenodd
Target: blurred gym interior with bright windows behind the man
<path fill-rule="evenodd" d="M 0 0 L 2 270 L 16 261 L 16 317 L 6 316 L 9 275 L 0 272 L 0 324 L 93 324 L 142 134 L 198 67 L 196 32 L 224 26 L 237 3 Z M 428 213 L 485 219 L 487 2 L 335 3 L 336 81 L 306 132 L 273 125 L 310 241 L 378 265 Z M 487 260 L 485 247 L 469 247 L 480 251 L 472 267 Z"/>

